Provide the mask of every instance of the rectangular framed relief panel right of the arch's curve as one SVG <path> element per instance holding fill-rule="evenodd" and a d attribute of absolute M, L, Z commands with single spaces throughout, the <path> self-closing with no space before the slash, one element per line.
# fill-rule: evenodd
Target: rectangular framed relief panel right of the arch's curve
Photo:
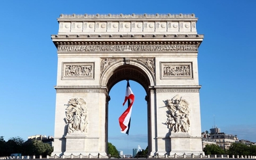
<path fill-rule="evenodd" d="M 172 77 L 192 78 L 192 63 L 161 63 L 161 79 Z"/>

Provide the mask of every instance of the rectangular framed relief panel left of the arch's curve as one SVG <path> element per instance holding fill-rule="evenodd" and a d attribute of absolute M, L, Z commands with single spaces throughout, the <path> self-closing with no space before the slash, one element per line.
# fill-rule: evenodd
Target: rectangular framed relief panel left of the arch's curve
<path fill-rule="evenodd" d="M 62 78 L 93 78 L 94 63 L 63 63 Z"/>

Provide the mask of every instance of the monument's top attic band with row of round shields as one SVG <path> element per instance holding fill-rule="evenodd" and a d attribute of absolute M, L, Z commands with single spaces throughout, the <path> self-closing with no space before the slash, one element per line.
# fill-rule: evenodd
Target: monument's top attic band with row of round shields
<path fill-rule="evenodd" d="M 196 33 L 195 14 L 60 15 L 59 33 Z"/>

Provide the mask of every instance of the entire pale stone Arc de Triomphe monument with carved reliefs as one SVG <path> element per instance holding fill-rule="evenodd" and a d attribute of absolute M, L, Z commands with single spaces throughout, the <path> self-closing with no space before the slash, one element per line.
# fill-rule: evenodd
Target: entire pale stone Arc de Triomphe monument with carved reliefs
<path fill-rule="evenodd" d="M 106 155 L 109 90 L 143 86 L 148 154 L 202 154 L 194 14 L 60 15 L 52 155 Z M 111 114 L 111 113 L 109 113 Z"/>

